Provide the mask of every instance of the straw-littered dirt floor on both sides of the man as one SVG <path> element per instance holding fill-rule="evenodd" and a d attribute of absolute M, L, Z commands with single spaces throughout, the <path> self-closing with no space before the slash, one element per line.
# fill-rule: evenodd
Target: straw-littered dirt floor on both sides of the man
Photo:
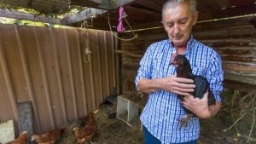
<path fill-rule="evenodd" d="M 133 122 L 133 126 L 125 124 L 119 118 L 108 118 L 108 112 L 116 110 L 116 105 L 102 105 L 94 114 L 97 124 L 96 135 L 89 141 L 89 144 L 143 144 L 143 131 L 138 118 Z M 221 112 L 220 112 L 221 114 Z M 236 139 L 224 129 L 230 125 L 219 120 L 220 116 L 201 121 L 201 137 L 198 144 L 244 144 L 245 140 Z M 87 118 L 67 124 L 67 130 L 61 136 L 58 144 L 76 144 L 73 128 L 86 124 Z"/>

